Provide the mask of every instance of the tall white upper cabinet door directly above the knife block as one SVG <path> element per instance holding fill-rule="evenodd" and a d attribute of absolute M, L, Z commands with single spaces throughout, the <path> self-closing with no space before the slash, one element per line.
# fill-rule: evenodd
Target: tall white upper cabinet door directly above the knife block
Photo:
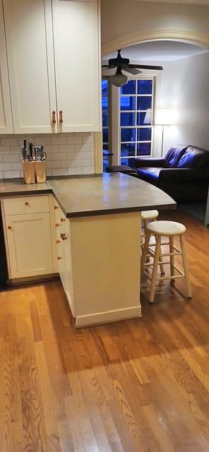
<path fill-rule="evenodd" d="M 15 133 L 50 133 L 56 112 L 50 0 L 3 0 Z"/>

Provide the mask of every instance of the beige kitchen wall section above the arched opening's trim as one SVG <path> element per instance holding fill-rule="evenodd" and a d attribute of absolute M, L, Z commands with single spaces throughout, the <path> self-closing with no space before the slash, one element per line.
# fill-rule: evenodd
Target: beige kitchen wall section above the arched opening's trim
<path fill-rule="evenodd" d="M 103 46 L 119 37 L 148 30 L 180 30 L 208 36 L 209 6 L 102 0 Z"/>

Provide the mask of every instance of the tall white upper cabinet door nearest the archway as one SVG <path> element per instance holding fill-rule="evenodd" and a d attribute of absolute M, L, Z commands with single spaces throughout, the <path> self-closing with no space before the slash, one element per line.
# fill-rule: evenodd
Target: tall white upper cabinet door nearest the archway
<path fill-rule="evenodd" d="M 100 130 L 97 8 L 97 0 L 52 0 L 59 131 Z"/>

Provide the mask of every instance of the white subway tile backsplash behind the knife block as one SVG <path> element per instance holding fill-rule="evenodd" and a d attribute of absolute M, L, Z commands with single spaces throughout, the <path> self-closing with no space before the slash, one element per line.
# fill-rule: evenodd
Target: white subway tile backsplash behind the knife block
<path fill-rule="evenodd" d="M 35 145 L 44 144 L 47 153 L 47 176 L 94 174 L 93 133 L 61 133 L 61 135 L 0 136 L 0 179 L 22 177 L 20 145 L 23 139 Z"/>

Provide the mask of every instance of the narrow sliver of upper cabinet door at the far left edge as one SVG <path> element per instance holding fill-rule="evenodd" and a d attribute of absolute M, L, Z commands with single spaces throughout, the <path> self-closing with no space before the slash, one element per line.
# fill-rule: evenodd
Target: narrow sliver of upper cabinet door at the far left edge
<path fill-rule="evenodd" d="M 13 133 L 11 98 L 8 83 L 4 16 L 0 2 L 0 133 Z"/>

